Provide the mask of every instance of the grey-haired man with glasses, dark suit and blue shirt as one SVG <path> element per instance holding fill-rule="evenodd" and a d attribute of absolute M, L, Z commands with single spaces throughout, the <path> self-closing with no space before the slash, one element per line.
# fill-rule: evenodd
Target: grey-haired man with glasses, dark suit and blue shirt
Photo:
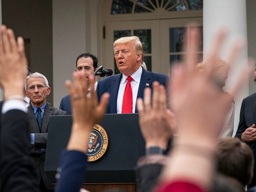
<path fill-rule="evenodd" d="M 29 75 L 25 82 L 25 94 L 30 98 L 28 118 L 30 122 L 31 155 L 38 171 L 38 185 L 41 191 L 53 191 L 54 186 L 44 173 L 49 117 L 52 115 L 66 115 L 67 112 L 52 107 L 46 102 L 46 96 L 51 88 L 46 77 L 38 72 Z"/>

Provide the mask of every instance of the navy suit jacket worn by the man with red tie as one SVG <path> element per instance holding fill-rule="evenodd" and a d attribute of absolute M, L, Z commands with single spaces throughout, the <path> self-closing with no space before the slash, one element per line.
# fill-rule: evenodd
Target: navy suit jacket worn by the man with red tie
<path fill-rule="evenodd" d="M 104 94 L 105 92 L 110 93 L 110 100 L 108 104 L 108 110 L 106 113 L 116 113 L 116 101 L 121 78 L 122 74 L 120 73 L 113 76 L 109 76 L 98 82 L 96 90 L 98 100 L 100 100 L 102 94 Z M 144 70 L 144 68 L 142 68 L 137 98 L 143 98 L 144 88 L 152 88 L 152 82 L 154 81 L 158 81 L 160 84 L 166 86 L 168 82 L 168 76 L 160 73 L 148 72 Z M 135 113 L 137 113 L 137 108 L 135 109 Z"/>

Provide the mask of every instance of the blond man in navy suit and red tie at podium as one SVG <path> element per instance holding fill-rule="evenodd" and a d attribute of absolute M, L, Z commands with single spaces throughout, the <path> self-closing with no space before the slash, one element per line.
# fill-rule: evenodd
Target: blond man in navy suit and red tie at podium
<path fill-rule="evenodd" d="M 143 48 L 136 36 L 123 37 L 114 42 L 116 66 L 121 74 L 107 77 L 98 82 L 97 96 L 110 93 L 107 113 L 137 113 L 136 99 L 143 98 L 143 90 L 151 88 L 152 82 L 167 84 L 168 76 L 148 72 L 141 67 Z"/>

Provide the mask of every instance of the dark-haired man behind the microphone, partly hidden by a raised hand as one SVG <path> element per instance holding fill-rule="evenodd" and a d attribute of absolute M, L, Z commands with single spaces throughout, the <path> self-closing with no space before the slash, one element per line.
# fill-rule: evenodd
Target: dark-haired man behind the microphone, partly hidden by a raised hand
<path fill-rule="evenodd" d="M 98 68 L 98 58 L 91 53 L 80 54 L 76 59 L 76 72 L 79 74 L 80 79 L 86 79 L 88 82 L 89 75 L 93 75 Z M 94 78 L 94 91 L 97 87 L 96 77 Z M 88 84 L 88 92 L 90 92 Z M 89 94 L 89 93 L 88 93 Z M 64 96 L 60 101 L 60 109 L 72 115 L 70 94 Z"/>

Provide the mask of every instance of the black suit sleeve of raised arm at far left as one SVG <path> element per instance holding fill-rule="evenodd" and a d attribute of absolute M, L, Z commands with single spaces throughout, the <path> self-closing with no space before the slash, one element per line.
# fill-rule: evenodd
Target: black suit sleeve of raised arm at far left
<path fill-rule="evenodd" d="M 6 192 L 39 192 L 29 154 L 28 117 L 10 110 L 1 117 L 1 186 Z"/>

